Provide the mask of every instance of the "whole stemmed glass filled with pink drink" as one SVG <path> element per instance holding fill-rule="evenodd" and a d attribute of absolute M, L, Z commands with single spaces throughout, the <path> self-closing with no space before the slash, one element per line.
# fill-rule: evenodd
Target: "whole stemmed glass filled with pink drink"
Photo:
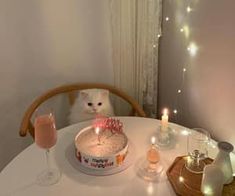
<path fill-rule="evenodd" d="M 42 149 L 46 150 L 47 169 L 45 169 L 37 178 L 37 183 L 41 186 L 55 184 L 60 179 L 60 171 L 52 168 L 50 165 L 50 148 L 56 144 L 57 131 L 55 118 L 49 110 L 37 110 L 35 121 L 35 143 Z"/>

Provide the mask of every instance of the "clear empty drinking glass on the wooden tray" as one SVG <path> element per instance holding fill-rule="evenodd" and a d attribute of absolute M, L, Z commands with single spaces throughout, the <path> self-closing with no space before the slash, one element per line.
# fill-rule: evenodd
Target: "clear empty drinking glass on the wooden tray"
<path fill-rule="evenodd" d="M 208 144 L 210 134 L 202 128 L 193 128 L 187 138 L 188 160 L 186 168 L 193 173 L 202 173 L 205 163 L 203 160 L 208 157 Z"/>

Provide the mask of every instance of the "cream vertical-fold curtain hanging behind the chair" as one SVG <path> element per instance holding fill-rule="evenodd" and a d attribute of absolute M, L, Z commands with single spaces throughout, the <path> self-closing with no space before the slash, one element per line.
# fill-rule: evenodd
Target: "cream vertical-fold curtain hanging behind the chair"
<path fill-rule="evenodd" d="M 115 86 L 157 115 L 161 0 L 110 0 Z M 126 106 L 116 103 L 120 111 Z"/>

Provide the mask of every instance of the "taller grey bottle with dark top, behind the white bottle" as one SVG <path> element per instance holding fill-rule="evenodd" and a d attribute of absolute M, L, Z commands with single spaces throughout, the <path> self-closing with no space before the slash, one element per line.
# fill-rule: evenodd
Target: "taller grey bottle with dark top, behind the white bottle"
<path fill-rule="evenodd" d="M 218 143 L 219 153 L 213 164 L 218 166 L 224 175 L 224 184 L 230 184 L 233 181 L 233 169 L 230 159 L 230 152 L 233 151 L 233 145 L 228 142 Z"/>

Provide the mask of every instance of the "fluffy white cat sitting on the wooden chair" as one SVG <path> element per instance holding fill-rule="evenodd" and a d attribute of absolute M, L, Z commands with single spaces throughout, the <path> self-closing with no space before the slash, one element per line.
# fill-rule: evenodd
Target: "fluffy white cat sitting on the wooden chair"
<path fill-rule="evenodd" d="M 109 91 L 103 89 L 82 90 L 71 107 L 69 123 L 74 124 L 94 119 L 97 114 L 114 116 Z"/>

